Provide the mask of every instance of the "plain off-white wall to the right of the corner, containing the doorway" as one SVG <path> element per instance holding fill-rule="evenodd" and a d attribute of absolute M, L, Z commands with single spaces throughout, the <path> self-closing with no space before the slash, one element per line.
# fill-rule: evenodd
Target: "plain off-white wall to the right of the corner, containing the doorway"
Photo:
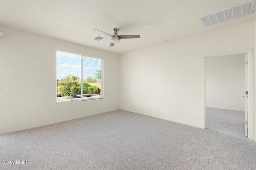
<path fill-rule="evenodd" d="M 249 48 L 254 21 L 123 54 L 120 108 L 203 127 L 202 55 Z"/>

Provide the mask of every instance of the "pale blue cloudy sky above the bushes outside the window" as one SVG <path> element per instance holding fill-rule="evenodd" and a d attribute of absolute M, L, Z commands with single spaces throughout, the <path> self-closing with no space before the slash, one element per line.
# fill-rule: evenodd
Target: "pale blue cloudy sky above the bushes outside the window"
<path fill-rule="evenodd" d="M 102 69 L 102 60 L 83 57 L 83 79 L 95 77 L 97 70 Z M 57 79 L 67 74 L 78 75 L 81 78 L 81 55 L 57 52 Z"/>

